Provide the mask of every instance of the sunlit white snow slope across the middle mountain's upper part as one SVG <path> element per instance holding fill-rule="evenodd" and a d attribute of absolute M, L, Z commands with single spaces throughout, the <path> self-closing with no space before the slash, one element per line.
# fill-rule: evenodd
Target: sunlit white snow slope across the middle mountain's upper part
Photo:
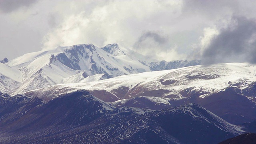
<path fill-rule="evenodd" d="M 30 93 L 36 92 L 40 96 L 50 91 L 48 96 L 58 96 L 78 89 L 100 89 L 120 99 L 134 96 L 185 98 L 195 92 L 204 98 L 226 88 L 245 91 L 253 88 L 254 84 L 255 64 L 228 63 L 144 72 L 82 84 L 58 84 Z M 126 91 L 125 94 L 122 91 Z M 253 98 L 254 93 L 248 93 L 247 96 Z"/>

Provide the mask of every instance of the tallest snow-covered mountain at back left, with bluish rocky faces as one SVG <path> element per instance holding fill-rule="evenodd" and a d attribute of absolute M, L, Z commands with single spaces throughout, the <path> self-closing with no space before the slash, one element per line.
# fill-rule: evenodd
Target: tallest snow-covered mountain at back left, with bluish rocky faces
<path fill-rule="evenodd" d="M 118 44 L 109 44 L 103 48 L 93 44 L 80 44 L 24 54 L 5 65 L 1 63 L 1 91 L 14 95 L 54 84 L 90 82 L 149 72 L 152 67 L 150 62 L 146 62 L 143 56 L 136 58 L 136 55 L 138 54 L 132 50 L 122 50 Z M 170 63 L 175 66 L 169 66 Z M 199 64 L 188 60 L 170 63 L 160 68 L 162 65 L 153 62 L 154 69 L 151 69 L 164 70 Z M 18 80 L 12 78 L 11 68 L 16 77 L 19 77 Z M 10 74 L 6 75 L 6 71 Z M 93 77 L 89 78 L 90 76 Z"/>

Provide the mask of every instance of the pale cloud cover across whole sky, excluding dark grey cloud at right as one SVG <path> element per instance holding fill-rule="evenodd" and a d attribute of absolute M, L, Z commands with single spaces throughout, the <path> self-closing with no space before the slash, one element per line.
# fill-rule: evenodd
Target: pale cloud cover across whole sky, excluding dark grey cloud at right
<path fill-rule="evenodd" d="M 184 59 L 193 46 L 205 47 L 221 28 L 230 27 L 233 15 L 255 18 L 255 2 L 38 1 L 27 9 L 1 13 L 1 56 L 40 50 L 40 42 L 44 49 L 118 43 L 147 56 L 153 51 L 158 60 Z M 147 32 L 156 32 L 166 42 L 148 37 L 136 47 Z"/>

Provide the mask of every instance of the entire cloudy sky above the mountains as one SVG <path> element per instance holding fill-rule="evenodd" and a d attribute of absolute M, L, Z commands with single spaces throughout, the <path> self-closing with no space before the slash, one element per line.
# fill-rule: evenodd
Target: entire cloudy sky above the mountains
<path fill-rule="evenodd" d="M 157 60 L 256 60 L 252 1 L 0 1 L 0 59 L 117 43 Z"/>

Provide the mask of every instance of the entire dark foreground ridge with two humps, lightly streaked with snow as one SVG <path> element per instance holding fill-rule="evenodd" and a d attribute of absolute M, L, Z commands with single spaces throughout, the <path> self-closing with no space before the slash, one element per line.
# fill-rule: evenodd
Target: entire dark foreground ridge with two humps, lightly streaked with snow
<path fill-rule="evenodd" d="M 27 95 L 1 103 L 1 143 L 217 143 L 243 132 L 197 104 L 118 109 L 84 90 L 48 103 Z"/>

